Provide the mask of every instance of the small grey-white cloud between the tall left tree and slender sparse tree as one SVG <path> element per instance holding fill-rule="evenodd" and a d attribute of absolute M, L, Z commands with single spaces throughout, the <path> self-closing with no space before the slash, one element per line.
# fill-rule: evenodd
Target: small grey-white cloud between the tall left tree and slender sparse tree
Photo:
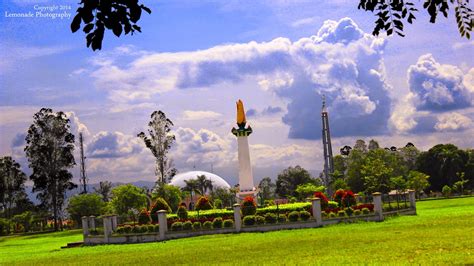
<path fill-rule="evenodd" d="M 101 131 L 88 143 L 87 156 L 90 158 L 128 157 L 140 153 L 143 148 L 143 143 L 136 136 Z"/>

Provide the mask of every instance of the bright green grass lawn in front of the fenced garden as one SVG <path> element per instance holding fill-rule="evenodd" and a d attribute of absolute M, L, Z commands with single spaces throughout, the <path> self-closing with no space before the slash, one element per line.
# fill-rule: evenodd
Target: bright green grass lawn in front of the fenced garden
<path fill-rule="evenodd" d="M 474 198 L 425 201 L 417 216 L 163 243 L 60 249 L 80 231 L 0 238 L 0 264 L 473 264 Z"/>

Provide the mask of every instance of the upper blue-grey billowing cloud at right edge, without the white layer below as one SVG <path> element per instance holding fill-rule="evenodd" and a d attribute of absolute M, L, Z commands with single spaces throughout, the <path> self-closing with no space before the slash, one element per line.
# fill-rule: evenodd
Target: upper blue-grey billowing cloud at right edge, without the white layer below
<path fill-rule="evenodd" d="M 472 105 L 474 90 L 465 84 L 471 82 L 464 81 L 462 70 L 438 63 L 431 54 L 420 56 L 409 67 L 408 82 L 418 110 L 446 111 Z"/>

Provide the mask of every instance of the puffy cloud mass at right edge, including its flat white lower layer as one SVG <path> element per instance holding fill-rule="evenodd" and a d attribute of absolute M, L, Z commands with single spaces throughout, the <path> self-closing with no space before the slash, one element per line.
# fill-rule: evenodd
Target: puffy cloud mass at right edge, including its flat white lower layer
<path fill-rule="evenodd" d="M 390 122 L 399 133 L 462 131 L 471 119 L 452 110 L 470 108 L 474 99 L 474 68 L 464 73 L 441 64 L 431 54 L 408 68 L 410 92 L 394 108 Z"/>

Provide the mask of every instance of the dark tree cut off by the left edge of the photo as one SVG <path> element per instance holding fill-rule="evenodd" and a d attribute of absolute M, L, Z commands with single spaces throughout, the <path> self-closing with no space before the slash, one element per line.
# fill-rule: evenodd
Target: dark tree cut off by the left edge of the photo
<path fill-rule="evenodd" d="M 10 156 L 0 158 L 0 206 L 5 218 L 10 218 L 11 209 L 25 195 L 26 174 L 20 164 Z"/>

